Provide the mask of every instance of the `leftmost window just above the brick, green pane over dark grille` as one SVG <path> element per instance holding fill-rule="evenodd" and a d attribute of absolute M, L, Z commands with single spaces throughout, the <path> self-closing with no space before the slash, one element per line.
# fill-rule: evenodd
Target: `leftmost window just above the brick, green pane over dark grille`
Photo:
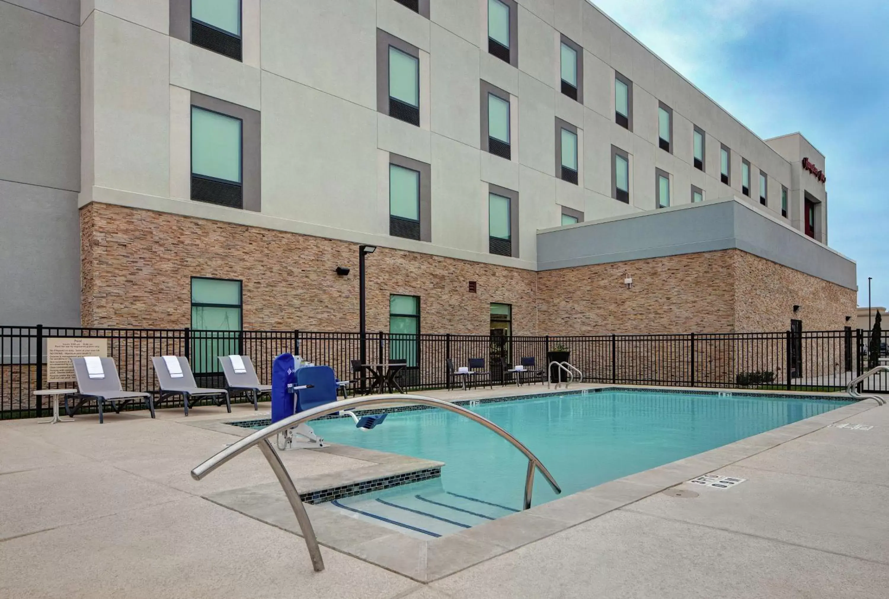
<path fill-rule="evenodd" d="M 242 208 L 242 121 L 191 107 L 191 199 Z"/>

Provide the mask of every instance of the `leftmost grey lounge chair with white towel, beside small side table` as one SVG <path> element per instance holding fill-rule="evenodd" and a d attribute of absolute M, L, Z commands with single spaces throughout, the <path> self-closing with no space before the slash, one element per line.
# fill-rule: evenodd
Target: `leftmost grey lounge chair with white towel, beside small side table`
<path fill-rule="evenodd" d="M 83 407 L 84 403 L 91 400 L 99 406 L 99 424 L 105 422 L 104 405 L 109 403 L 111 409 L 119 414 L 127 403 L 141 399 L 148 406 L 151 418 L 155 417 L 155 403 L 150 393 L 139 391 L 124 391 L 117 376 L 117 368 L 113 358 L 100 358 L 95 356 L 83 358 L 71 358 L 74 363 L 74 376 L 77 379 L 77 393 L 75 399 L 80 401 L 74 409 L 68 407 L 68 396 L 65 397 L 65 412 L 70 417 Z"/>

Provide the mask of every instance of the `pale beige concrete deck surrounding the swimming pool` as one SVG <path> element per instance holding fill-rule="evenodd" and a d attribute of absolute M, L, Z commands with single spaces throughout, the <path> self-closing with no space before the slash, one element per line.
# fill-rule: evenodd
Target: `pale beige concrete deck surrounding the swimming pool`
<path fill-rule="evenodd" d="M 191 413 L 111 414 L 101 426 L 95 416 L 61 427 L 0 423 L 0 596 L 889 595 L 889 406 L 872 401 L 763 434 L 774 443 L 752 437 L 738 442 L 745 451 L 726 448 L 736 455 L 717 474 L 748 479 L 732 489 L 684 483 L 671 491 L 697 496 L 675 497 L 660 492 L 670 480 L 655 473 L 535 507 L 549 506 L 537 519 L 568 526 L 444 577 L 427 572 L 428 584 L 329 547 L 326 570 L 315 573 L 300 537 L 204 499 L 275 479 L 250 451 L 192 480 L 190 469 L 233 439 L 206 423 L 256 412 L 238 405 L 231 415 L 215 407 Z M 835 422 L 872 428 L 828 427 Z M 322 451 L 283 459 L 294 478 L 378 466 Z M 627 485 L 651 488 L 636 489 L 647 492 L 628 503 Z M 594 492 L 612 497 L 599 498 L 601 515 L 577 521 L 567 503 L 587 508 L 581 496 Z M 503 531 L 512 534 L 523 533 Z M 412 557 L 408 547 L 389 548 Z"/>

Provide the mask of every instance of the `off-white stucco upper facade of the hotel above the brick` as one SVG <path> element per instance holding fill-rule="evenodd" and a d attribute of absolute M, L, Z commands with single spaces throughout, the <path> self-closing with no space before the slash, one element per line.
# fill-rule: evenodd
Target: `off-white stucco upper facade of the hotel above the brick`
<path fill-rule="evenodd" d="M 671 204 L 741 194 L 802 228 L 805 190 L 823 185 L 798 168 L 823 157 L 801 136 L 765 142 L 586 0 L 519 0 L 517 68 L 487 52 L 487 0 L 430 4 L 429 19 L 394 0 L 244 0 L 243 61 L 169 35 L 170 0 L 82 3 L 84 124 L 80 205 L 92 200 L 176 212 L 455 258 L 535 268 L 535 233 L 558 226 L 561 206 L 595 220 L 655 209 L 655 169 L 669 173 Z M 420 51 L 420 126 L 377 110 L 377 29 Z M 583 103 L 559 91 L 559 39 L 583 48 Z M 614 72 L 633 83 L 633 131 L 614 119 Z M 509 92 L 512 159 L 480 149 L 479 85 Z M 260 111 L 261 210 L 189 199 L 190 92 Z M 673 110 L 673 151 L 658 147 L 659 101 Z M 555 119 L 578 130 L 578 184 L 557 177 Z M 704 171 L 693 166 L 693 127 L 706 132 Z M 719 148 L 732 180 L 719 180 Z M 612 197 L 611 148 L 630 156 L 630 202 Z M 431 165 L 431 242 L 388 235 L 388 163 L 394 153 Z M 768 205 L 758 173 L 768 173 Z M 811 180 L 806 180 L 808 177 Z M 802 180 L 802 181 L 801 181 Z M 488 253 L 488 184 L 520 196 L 517 258 Z M 826 226 L 818 236 L 826 240 Z"/>

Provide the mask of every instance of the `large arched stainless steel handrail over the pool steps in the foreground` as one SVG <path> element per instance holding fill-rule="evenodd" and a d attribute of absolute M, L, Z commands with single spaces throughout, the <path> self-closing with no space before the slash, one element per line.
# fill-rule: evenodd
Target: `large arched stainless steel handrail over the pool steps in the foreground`
<path fill-rule="evenodd" d="M 321 550 L 318 547 L 315 530 L 312 528 L 312 523 L 308 519 L 308 514 L 306 514 L 306 507 L 302 505 L 300 493 L 296 490 L 296 487 L 293 484 L 290 475 L 287 473 L 287 468 L 284 467 L 284 463 L 281 461 L 281 458 L 278 456 L 272 444 L 269 443 L 268 439 L 288 428 L 299 426 L 303 422 L 308 422 L 308 420 L 320 418 L 321 416 L 326 416 L 337 411 L 348 410 L 350 408 L 357 408 L 367 405 L 377 405 L 380 403 L 386 405 L 391 405 L 393 403 L 420 403 L 422 405 L 430 405 L 432 407 L 441 408 L 443 410 L 453 411 L 454 413 L 465 416 L 470 420 L 474 420 L 483 427 L 493 430 L 493 432 L 501 435 L 501 437 L 509 441 L 509 443 L 512 443 L 512 445 L 518 451 L 524 453 L 525 458 L 528 459 L 528 469 L 525 474 L 525 498 L 523 502 L 523 509 L 528 509 L 531 507 L 531 496 L 534 486 L 535 469 L 541 471 L 541 474 L 547 479 L 547 482 L 549 483 L 549 486 L 552 487 L 553 491 L 556 491 L 557 493 L 562 492 L 562 489 L 558 486 L 558 483 L 556 483 L 556 479 L 553 478 L 553 475 L 549 474 L 549 470 L 547 470 L 547 467 L 543 466 L 541 460 L 537 459 L 537 456 L 535 456 L 531 452 L 531 450 L 525 447 L 524 443 L 518 441 L 516 437 L 510 435 L 501 427 L 498 427 L 491 420 L 479 416 L 474 411 L 469 411 L 466 408 L 463 408 L 454 403 L 445 402 L 433 397 L 426 397 L 425 395 L 369 395 L 366 397 L 354 397 L 352 399 L 344 399 L 339 402 L 325 403 L 324 405 L 319 405 L 316 408 L 312 408 L 311 410 L 300 411 L 297 414 L 293 414 L 289 418 L 278 420 L 274 424 L 258 430 L 252 435 L 245 436 L 243 439 L 237 441 L 236 443 L 232 443 L 224 450 L 212 456 L 212 458 L 204 460 L 204 462 L 195 467 L 191 471 L 191 476 L 196 481 L 199 481 L 204 478 L 204 476 L 210 474 L 216 468 L 225 464 L 229 459 L 233 459 L 236 456 L 241 455 L 242 453 L 244 453 L 244 451 L 247 451 L 253 445 L 259 445 L 260 451 L 262 451 L 262 454 L 268 460 L 269 466 L 271 466 L 272 470 L 275 472 L 278 483 L 280 483 L 281 487 L 284 489 L 284 494 L 286 494 L 287 499 L 290 502 L 290 505 L 293 509 L 293 514 L 296 515 L 296 520 L 300 524 L 300 531 L 302 531 L 303 538 L 306 539 L 308 555 L 310 555 L 312 558 L 312 566 L 315 568 L 315 571 L 322 571 L 324 570 L 324 561 L 321 558 Z"/>

